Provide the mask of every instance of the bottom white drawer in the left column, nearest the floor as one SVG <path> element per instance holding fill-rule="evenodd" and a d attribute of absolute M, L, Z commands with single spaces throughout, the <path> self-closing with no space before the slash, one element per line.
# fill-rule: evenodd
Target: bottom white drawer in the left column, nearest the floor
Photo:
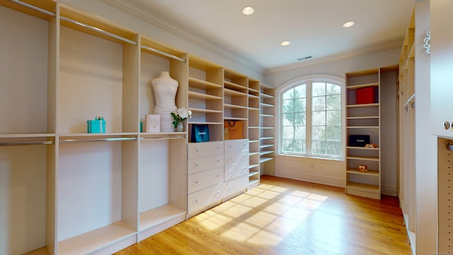
<path fill-rule="evenodd" d="M 189 194 L 188 211 L 194 212 L 224 198 L 224 183 Z"/>

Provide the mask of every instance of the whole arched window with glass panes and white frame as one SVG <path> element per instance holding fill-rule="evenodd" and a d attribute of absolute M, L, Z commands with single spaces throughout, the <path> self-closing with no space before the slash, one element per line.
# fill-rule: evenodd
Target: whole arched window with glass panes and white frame
<path fill-rule="evenodd" d="M 302 77 L 277 91 L 280 154 L 343 157 L 341 79 Z"/>

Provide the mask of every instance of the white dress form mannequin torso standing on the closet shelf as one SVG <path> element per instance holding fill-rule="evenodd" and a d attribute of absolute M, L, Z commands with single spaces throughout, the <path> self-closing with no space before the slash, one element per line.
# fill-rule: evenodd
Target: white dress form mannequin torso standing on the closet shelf
<path fill-rule="evenodd" d="M 168 72 L 161 72 L 161 76 L 153 79 L 151 85 L 156 98 L 154 114 L 161 115 L 161 132 L 173 132 L 171 113 L 178 109 L 175 103 L 178 81 L 171 79 Z"/>

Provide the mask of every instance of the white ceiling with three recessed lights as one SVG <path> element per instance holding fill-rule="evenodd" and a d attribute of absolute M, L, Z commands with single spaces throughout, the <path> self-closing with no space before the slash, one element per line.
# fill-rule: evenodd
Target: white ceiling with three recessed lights
<path fill-rule="evenodd" d="M 103 1 L 264 70 L 399 47 L 415 4 L 414 0 Z M 245 6 L 255 9 L 253 15 L 241 13 Z M 346 21 L 355 21 L 355 26 L 343 28 Z M 283 40 L 291 44 L 281 46 Z"/>

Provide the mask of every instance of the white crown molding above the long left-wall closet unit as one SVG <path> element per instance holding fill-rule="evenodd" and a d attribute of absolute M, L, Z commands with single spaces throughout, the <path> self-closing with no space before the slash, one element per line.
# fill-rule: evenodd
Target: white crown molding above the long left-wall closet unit
<path fill-rule="evenodd" d="M 219 47 L 212 45 L 206 40 L 202 40 L 202 38 L 190 34 L 187 31 L 181 30 L 180 28 L 177 28 L 176 26 L 173 26 L 170 23 L 162 21 L 160 18 L 157 18 L 151 13 L 143 11 L 137 6 L 134 6 L 133 4 L 130 3 L 130 1 L 127 0 L 101 0 L 101 1 L 105 4 L 113 6 L 114 8 L 117 8 L 120 11 L 128 13 L 136 18 L 139 18 L 142 21 L 150 23 L 153 26 L 161 28 L 162 30 L 167 31 L 168 33 L 176 35 L 179 38 L 183 38 L 184 40 L 193 42 L 195 45 L 198 45 L 205 50 L 213 52 L 221 57 L 224 57 L 227 60 L 231 60 L 233 62 L 236 62 L 237 64 L 241 64 L 243 67 L 247 67 L 248 69 L 251 69 L 254 72 L 258 72 L 260 74 L 263 74 L 264 72 L 264 69 L 260 68 L 258 64 L 246 61 L 243 58 L 232 54 L 231 52 L 226 52 L 225 50 L 222 50 Z"/>

